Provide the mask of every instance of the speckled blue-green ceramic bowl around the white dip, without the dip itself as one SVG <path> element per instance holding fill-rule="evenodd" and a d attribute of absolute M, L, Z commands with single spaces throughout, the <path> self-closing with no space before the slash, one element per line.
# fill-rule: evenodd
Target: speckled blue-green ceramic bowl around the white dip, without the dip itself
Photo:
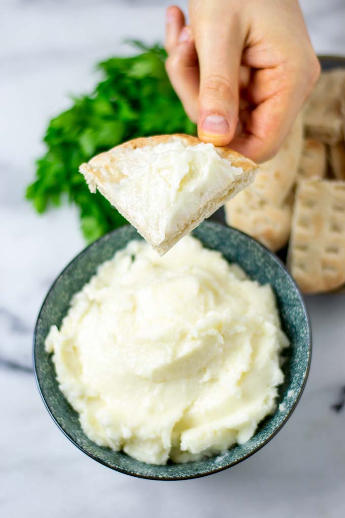
<path fill-rule="evenodd" d="M 34 336 L 34 364 L 44 404 L 57 426 L 84 453 L 109 468 L 136 477 L 155 480 L 183 480 L 202 477 L 234 466 L 263 447 L 288 420 L 302 394 L 308 376 L 311 336 L 307 311 L 296 284 L 279 259 L 260 243 L 227 226 L 204 222 L 193 231 L 205 247 L 219 250 L 229 262 L 241 265 L 252 279 L 270 283 L 277 296 L 282 326 L 291 347 L 284 362 L 284 384 L 279 391 L 279 408 L 258 427 L 245 444 L 226 454 L 186 464 L 155 466 L 133 459 L 122 452 L 97 446 L 81 429 L 78 414 L 59 391 L 50 355 L 44 340 L 52 324 L 60 326 L 71 297 L 95 274 L 97 266 L 110 259 L 131 239 L 141 239 L 131 226 L 119 228 L 81 252 L 52 285 L 38 315 Z"/>

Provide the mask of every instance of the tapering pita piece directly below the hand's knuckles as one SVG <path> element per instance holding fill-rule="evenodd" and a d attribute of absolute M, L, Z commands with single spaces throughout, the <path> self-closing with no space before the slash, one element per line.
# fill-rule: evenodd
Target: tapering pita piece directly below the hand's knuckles
<path fill-rule="evenodd" d="M 303 145 L 303 122 L 299 114 L 286 140 L 273 159 L 260 164 L 255 182 L 250 187 L 266 202 L 280 206 L 296 180 Z"/>

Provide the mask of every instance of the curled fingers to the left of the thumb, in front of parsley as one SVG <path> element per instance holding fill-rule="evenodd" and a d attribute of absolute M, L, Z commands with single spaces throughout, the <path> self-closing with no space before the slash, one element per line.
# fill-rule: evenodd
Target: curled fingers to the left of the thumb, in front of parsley
<path fill-rule="evenodd" d="M 168 17 L 172 15 L 172 18 Z M 166 69 L 170 82 L 192 122 L 197 122 L 199 66 L 190 27 L 181 25 L 184 16 L 177 7 L 167 10 Z"/>

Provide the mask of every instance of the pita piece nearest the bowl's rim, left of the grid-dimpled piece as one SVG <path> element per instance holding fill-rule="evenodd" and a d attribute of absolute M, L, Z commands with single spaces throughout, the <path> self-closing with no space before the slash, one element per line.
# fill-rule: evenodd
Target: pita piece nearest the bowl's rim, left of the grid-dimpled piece
<path fill-rule="evenodd" d="M 225 204 L 228 225 L 254 237 L 273 252 L 284 247 L 289 239 L 293 193 L 280 205 L 266 202 L 251 188 Z"/>

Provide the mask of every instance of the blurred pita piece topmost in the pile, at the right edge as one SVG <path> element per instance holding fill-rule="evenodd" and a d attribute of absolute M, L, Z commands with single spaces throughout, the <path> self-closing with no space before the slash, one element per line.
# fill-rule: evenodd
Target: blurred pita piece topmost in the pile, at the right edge
<path fill-rule="evenodd" d="M 345 70 L 323 72 L 304 108 L 307 136 L 331 146 L 342 140 L 341 96 Z"/>

